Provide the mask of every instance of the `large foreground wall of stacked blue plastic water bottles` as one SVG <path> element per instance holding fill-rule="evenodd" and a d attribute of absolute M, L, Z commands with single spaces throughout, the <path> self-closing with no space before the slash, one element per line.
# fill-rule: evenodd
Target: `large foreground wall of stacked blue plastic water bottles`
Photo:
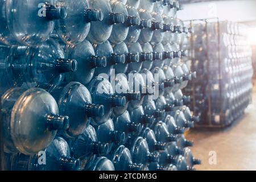
<path fill-rule="evenodd" d="M 0 0 L 9 170 L 193 170 L 177 1 Z"/>

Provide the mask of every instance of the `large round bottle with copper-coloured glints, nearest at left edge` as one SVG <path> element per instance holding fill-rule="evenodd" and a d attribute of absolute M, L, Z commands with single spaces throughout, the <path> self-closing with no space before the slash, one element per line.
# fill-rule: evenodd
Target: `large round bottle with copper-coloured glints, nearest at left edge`
<path fill-rule="evenodd" d="M 54 98 L 43 89 L 12 88 L 2 95 L 5 152 L 34 155 L 67 129 L 69 118 L 59 115 Z"/>

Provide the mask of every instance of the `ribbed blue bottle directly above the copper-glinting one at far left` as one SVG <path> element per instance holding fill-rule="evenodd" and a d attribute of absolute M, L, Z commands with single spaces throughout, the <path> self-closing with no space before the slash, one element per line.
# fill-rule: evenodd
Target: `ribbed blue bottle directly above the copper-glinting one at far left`
<path fill-rule="evenodd" d="M 52 39 L 38 47 L 14 49 L 11 59 L 2 60 L 13 86 L 40 87 L 49 91 L 61 84 L 65 73 L 77 70 L 77 61 L 65 59 L 63 49 Z"/>

